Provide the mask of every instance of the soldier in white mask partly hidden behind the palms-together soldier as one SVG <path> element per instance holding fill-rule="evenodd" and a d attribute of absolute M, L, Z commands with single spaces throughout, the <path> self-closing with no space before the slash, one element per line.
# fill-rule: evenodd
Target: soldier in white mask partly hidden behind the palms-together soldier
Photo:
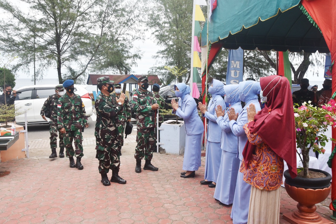
<path fill-rule="evenodd" d="M 120 83 L 114 84 L 114 91 L 115 93 L 111 95 L 112 95 L 113 103 L 116 104 L 116 98 L 119 98 L 121 95 L 121 84 Z M 120 155 L 121 155 L 121 147 L 124 145 L 124 131 L 125 131 L 126 121 L 131 121 L 131 107 L 129 105 L 127 96 L 125 96 L 123 111 L 122 113 L 118 114 L 118 121 L 117 121 L 118 151 L 120 152 Z"/>

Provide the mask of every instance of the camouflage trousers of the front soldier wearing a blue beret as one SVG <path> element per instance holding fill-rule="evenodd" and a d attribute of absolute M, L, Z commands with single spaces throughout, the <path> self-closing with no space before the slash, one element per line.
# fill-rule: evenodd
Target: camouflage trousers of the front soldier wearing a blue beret
<path fill-rule="evenodd" d="M 72 142 L 75 143 L 76 153 L 74 151 L 74 147 L 72 147 Z M 83 157 L 83 136 L 82 136 L 82 128 L 76 130 L 67 130 L 64 134 L 64 144 L 67 149 L 67 157 L 76 156 Z"/>

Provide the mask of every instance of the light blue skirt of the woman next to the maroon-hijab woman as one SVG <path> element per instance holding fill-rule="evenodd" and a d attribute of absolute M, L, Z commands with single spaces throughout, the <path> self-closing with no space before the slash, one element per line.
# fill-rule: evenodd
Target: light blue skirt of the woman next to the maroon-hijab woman
<path fill-rule="evenodd" d="M 241 160 L 240 164 L 242 164 Z M 234 224 L 246 224 L 249 216 L 251 185 L 246 183 L 243 177 L 243 173 L 238 172 L 235 198 L 230 215 Z"/>

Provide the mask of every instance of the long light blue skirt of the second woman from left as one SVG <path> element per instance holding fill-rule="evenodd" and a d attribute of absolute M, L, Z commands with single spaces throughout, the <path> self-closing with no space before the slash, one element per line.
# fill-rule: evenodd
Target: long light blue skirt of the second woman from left
<path fill-rule="evenodd" d="M 220 142 L 207 141 L 204 180 L 216 183 L 222 151 L 223 150 L 220 148 Z"/>

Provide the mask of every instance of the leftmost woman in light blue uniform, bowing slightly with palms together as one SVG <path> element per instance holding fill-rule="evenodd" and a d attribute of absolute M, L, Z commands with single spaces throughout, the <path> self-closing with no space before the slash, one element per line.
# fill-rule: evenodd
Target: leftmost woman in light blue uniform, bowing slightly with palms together
<path fill-rule="evenodd" d="M 183 157 L 183 170 L 181 177 L 189 178 L 195 176 L 195 171 L 201 166 L 201 138 L 204 126 L 198 115 L 197 104 L 190 96 L 190 87 L 184 83 L 174 85 L 176 97 L 181 98 L 178 104 L 171 101 L 173 114 L 183 118 L 185 127 L 185 149 Z"/>

